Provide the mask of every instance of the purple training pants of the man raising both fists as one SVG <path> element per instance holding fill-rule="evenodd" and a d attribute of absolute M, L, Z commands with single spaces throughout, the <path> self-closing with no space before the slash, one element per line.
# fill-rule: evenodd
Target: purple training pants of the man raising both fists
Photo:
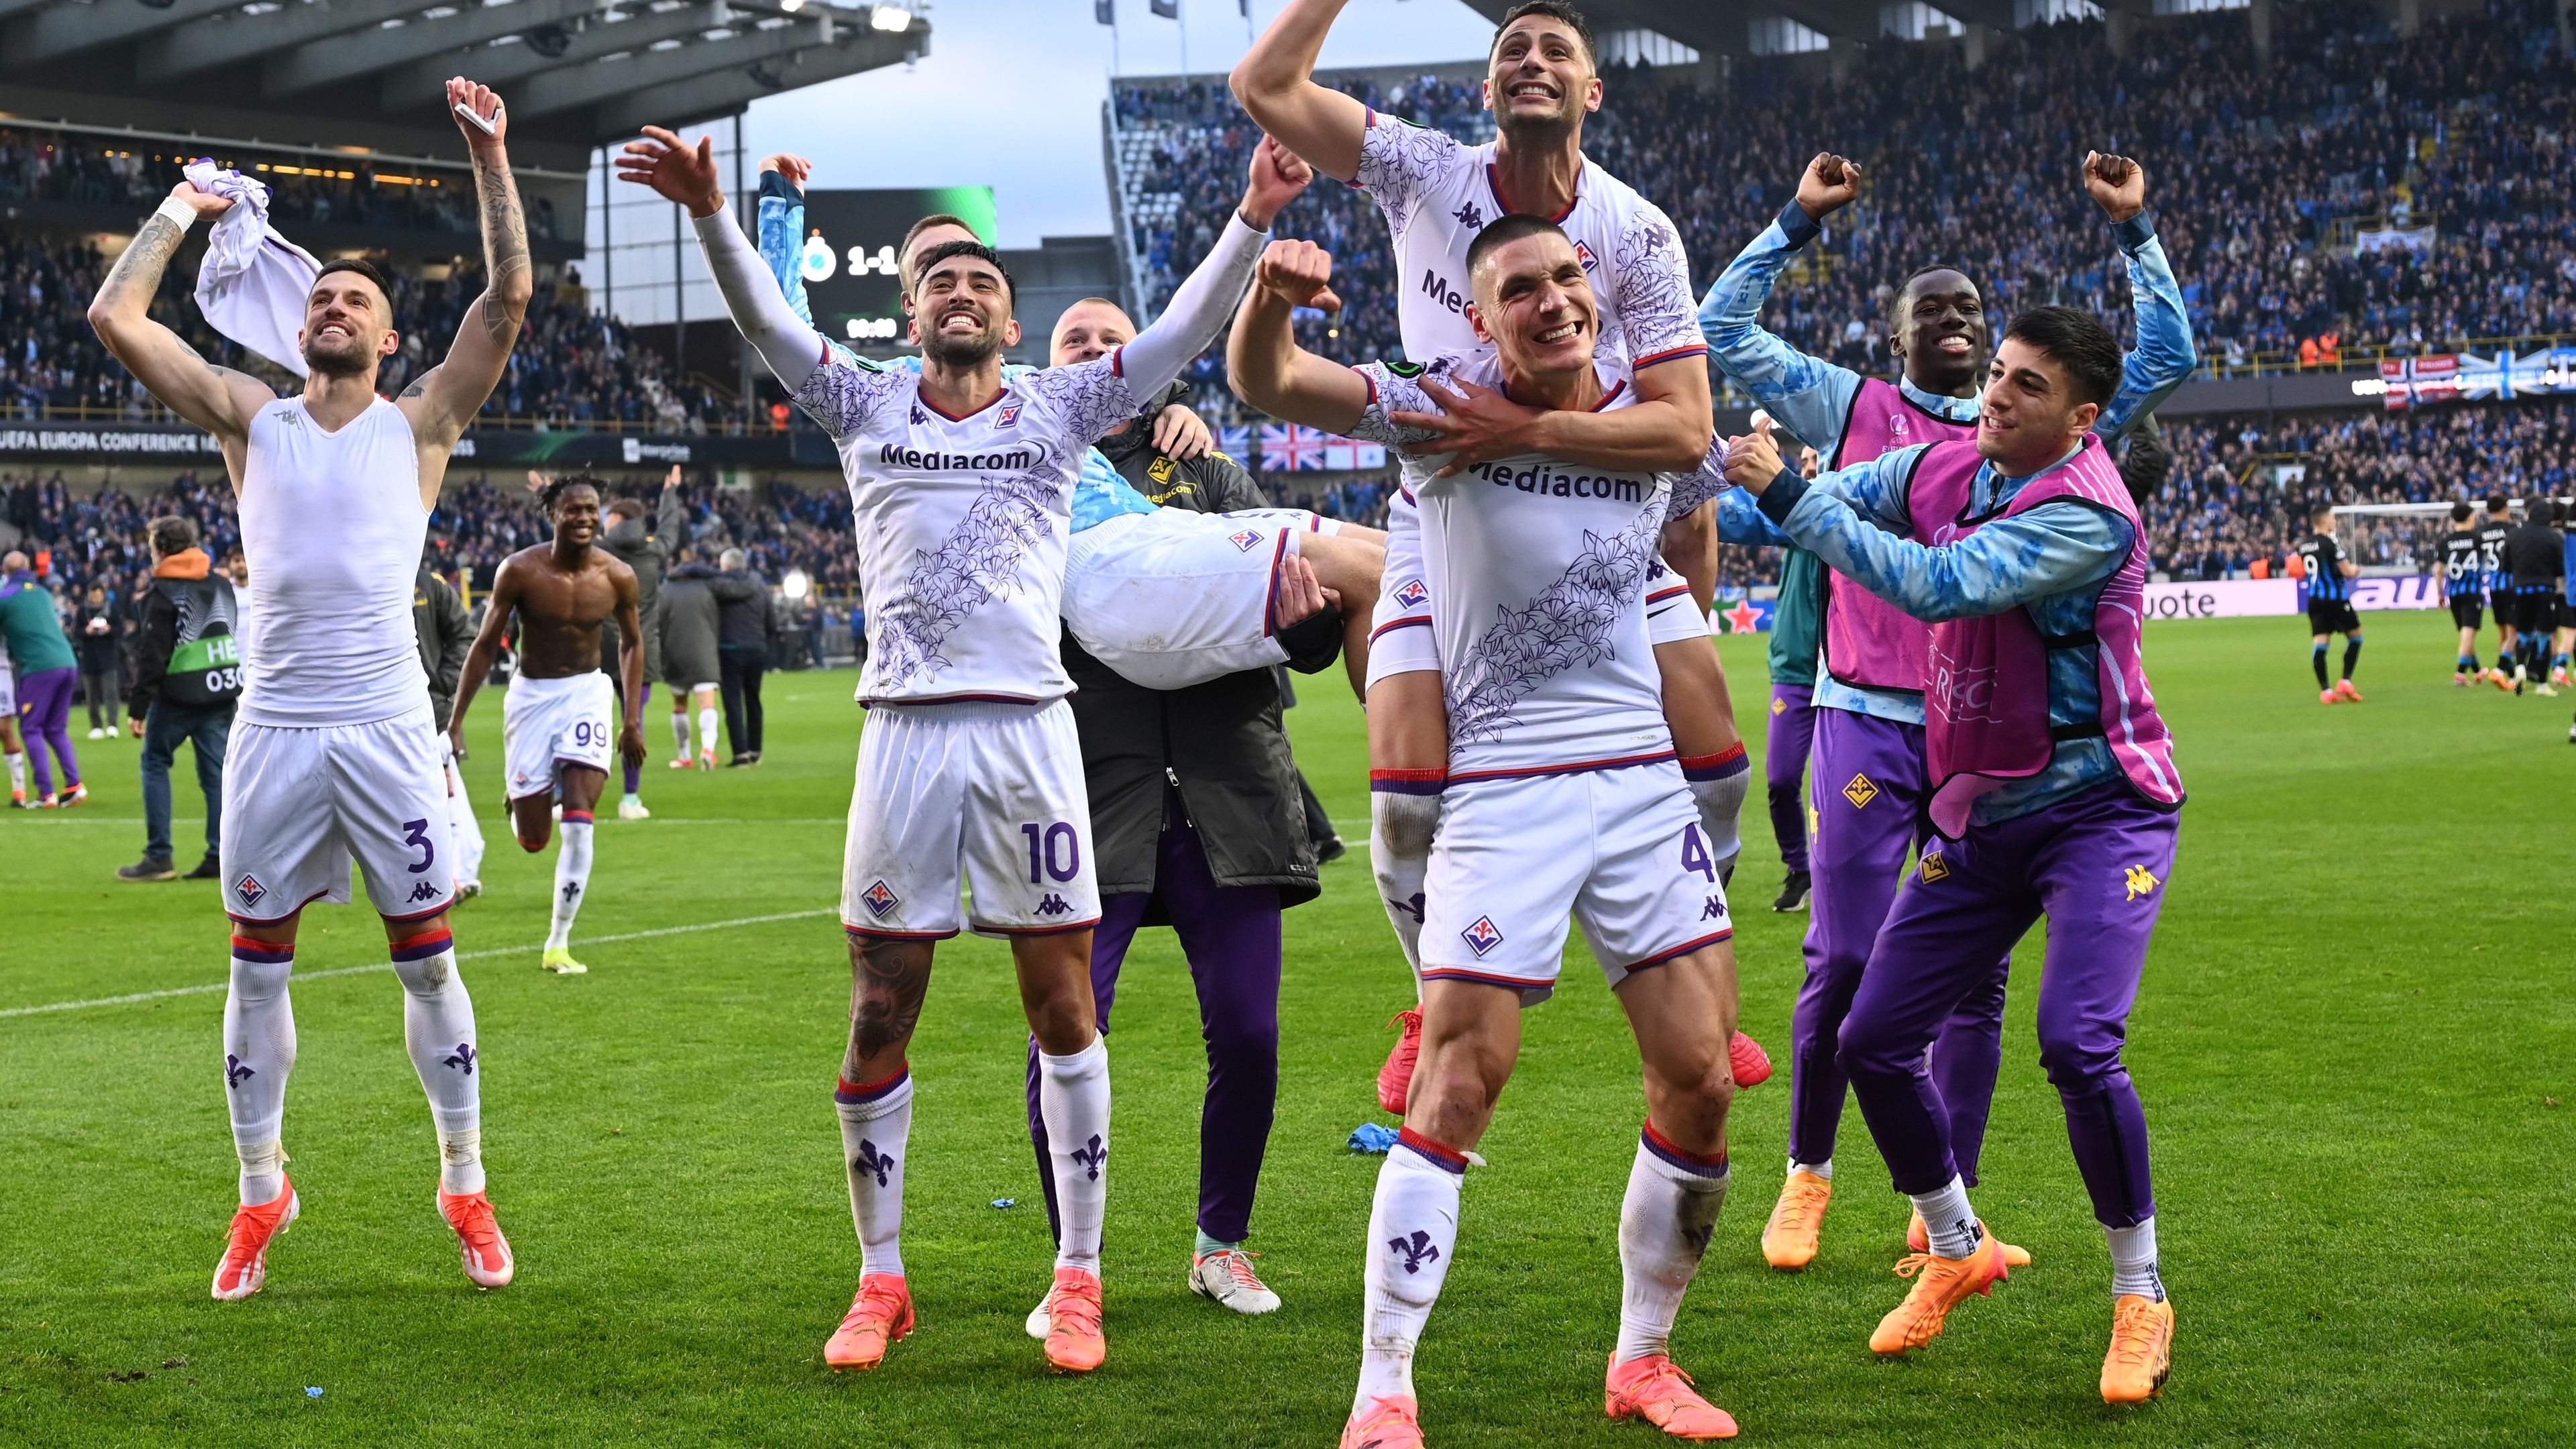
<path fill-rule="evenodd" d="M 1870 949 L 1888 920 L 1888 902 L 1906 869 L 1922 820 L 1924 727 L 1816 709 L 1816 841 L 1808 846 L 1816 895 L 1806 928 L 1806 985 L 1790 1016 L 1788 1152 L 1801 1163 L 1834 1155 L 1842 1127 L 1844 1065 L 1834 1042 L 1862 985 Z M 2012 941 L 1986 957 L 1986 975 L 1963 990 L 1955 1011 L 1935 1021 L 1932 1075 L 1950 1111 L 1950 1145 L 1960 1176 L 1976 1186 L 1986 1147 L 1994 1075 L 2004 1060 L 2004 977 Z M 1922 1044 L 1914 1049 L 1917 1065 Z M 1947 1178 L 1942 1178 L 1947 1181 Z"/>

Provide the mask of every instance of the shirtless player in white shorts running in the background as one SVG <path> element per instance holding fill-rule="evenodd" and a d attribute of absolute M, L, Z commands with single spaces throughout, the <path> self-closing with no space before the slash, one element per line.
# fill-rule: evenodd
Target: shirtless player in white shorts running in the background
<path fill-rule="evenodd" d="M 616 706 L 608 676 L 600 673 L 600 629 L 618 627 L 618 694 L 626 696 L 616 730 L 618 755 L 644 763 L 644 627 L 636 608 L 636 570 L 626 567 L 600 539 L 600 480 L 567 474 L 546 485 L 546 518 L 554 541 L 520 549 L 492 575 L 492 603 L 484 627 L 466 652 L 466 673 L 456 681 L 456 709 L 448 737 L 459 755 L 466 743 L 466 709 L 492 678 L 502 637 L 518 619 L 518 670 L 500 706 L 502 771 L 510 789 L 510 825 L 518 848 L 546 848 L 554 833 L 554 797 L 564 799 L 564 848 L 554 853 L 554 926 L 546 931 L 544 967 L 582 975 L 590 967 L 572 959 L 572 920 L 590 892 L 590 833 L 608 786 L 608 714 Z"/>

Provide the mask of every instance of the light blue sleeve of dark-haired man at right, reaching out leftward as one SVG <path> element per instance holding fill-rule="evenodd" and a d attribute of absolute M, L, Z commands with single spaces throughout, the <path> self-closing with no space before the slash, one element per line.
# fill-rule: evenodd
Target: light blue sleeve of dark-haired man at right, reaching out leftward
<path fill-rule="evenodd" d="M 1862 469 L 1829 477 L 1855 472 Z M 1795 474 L 1783 474 L 1762 495 L 1762 513 L 1798 547 L 1932 624 L 2002 614 L 2102 583 L 2128 557 L 2133 536 L 2128 518 L 2092 503 L 2056 500 L 1935 549 L 1873 526 L 1826 487 L 1793 487 L 1795 482 Z M 1775 503 L 1783 492 L 1788 498 Z"/>

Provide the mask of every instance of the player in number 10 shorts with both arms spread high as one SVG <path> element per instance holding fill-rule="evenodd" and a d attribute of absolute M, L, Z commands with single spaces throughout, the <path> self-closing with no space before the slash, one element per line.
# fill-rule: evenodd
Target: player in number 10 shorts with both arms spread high
<path fill-rule="evenodd" d="M 922 371 L 832 356 L 796 317 L 724 209 L 714 142 L 647 129 L 618 157 L 696 217 L 716 289 L 762 361 L 837 441 L 868 598 L 871 719 L 842 856 L 850 1047 L 835 1104 L 860 1235 L 860 1287 L 824 1361 L 868 1369 L 912 1330 L 902 1263 L 912 1078 L 904 1049 L 933 944 L 961 926 L 1005 936 L 1038 1039 L 1038 1109 L 1061 1240 L 1046 1361 L 1097 1369 L 1100 1217 L 1108 1191 L 1108 1052 L 1092 1013 L 1090 807 L 1059 598 L 1072 490 L 1092 438 L 1133 418 L 1224 327 L 1260 242 L 1311 173 L 1267 139 L 1244 201 L 1162 320 L 1105 358 L 1002 376 L 1020 338 L 1012 284 L 981 242 L 922 255 L 912 338 Z M 958 884 L 974 918 L 958 913 Z"/>

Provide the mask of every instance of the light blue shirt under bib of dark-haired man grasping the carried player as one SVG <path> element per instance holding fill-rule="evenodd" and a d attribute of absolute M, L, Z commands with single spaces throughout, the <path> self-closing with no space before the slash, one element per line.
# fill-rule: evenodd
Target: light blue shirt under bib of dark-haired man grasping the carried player
<path fill-rule="evenodd" d="M 2094 503 L 2061 498 L 1996 518 L 1955 544 L 1917 544 L 1909 536 L 1914 516 L 1906 487 L 1927 446 L 1896 449 L 1814 480 L 1783 472 L 1762 492 L 1759 511 L 1790 541 L 1917 619 L 1937 624 L 2027 608 L 2040 634 L 2089 634 L 2102 585 L 2136 547 L 2130 521 Z M 2009 505 L 2027 482 L 2002 477 L 1991 462 L 1981 464 L 1968 487 L 1971 516 Z M 2102 719 L 2097 655 L 2099 645 L 2048 650 L 2048 724 Z M 1821 686 L 1819 678 L 1819 704 Z M 1971 820 L 1991 825 L 2030 815 L 2117 773 L 2105 740 L 2058 740 L 2045 771 L 1978 797 Z"/>

